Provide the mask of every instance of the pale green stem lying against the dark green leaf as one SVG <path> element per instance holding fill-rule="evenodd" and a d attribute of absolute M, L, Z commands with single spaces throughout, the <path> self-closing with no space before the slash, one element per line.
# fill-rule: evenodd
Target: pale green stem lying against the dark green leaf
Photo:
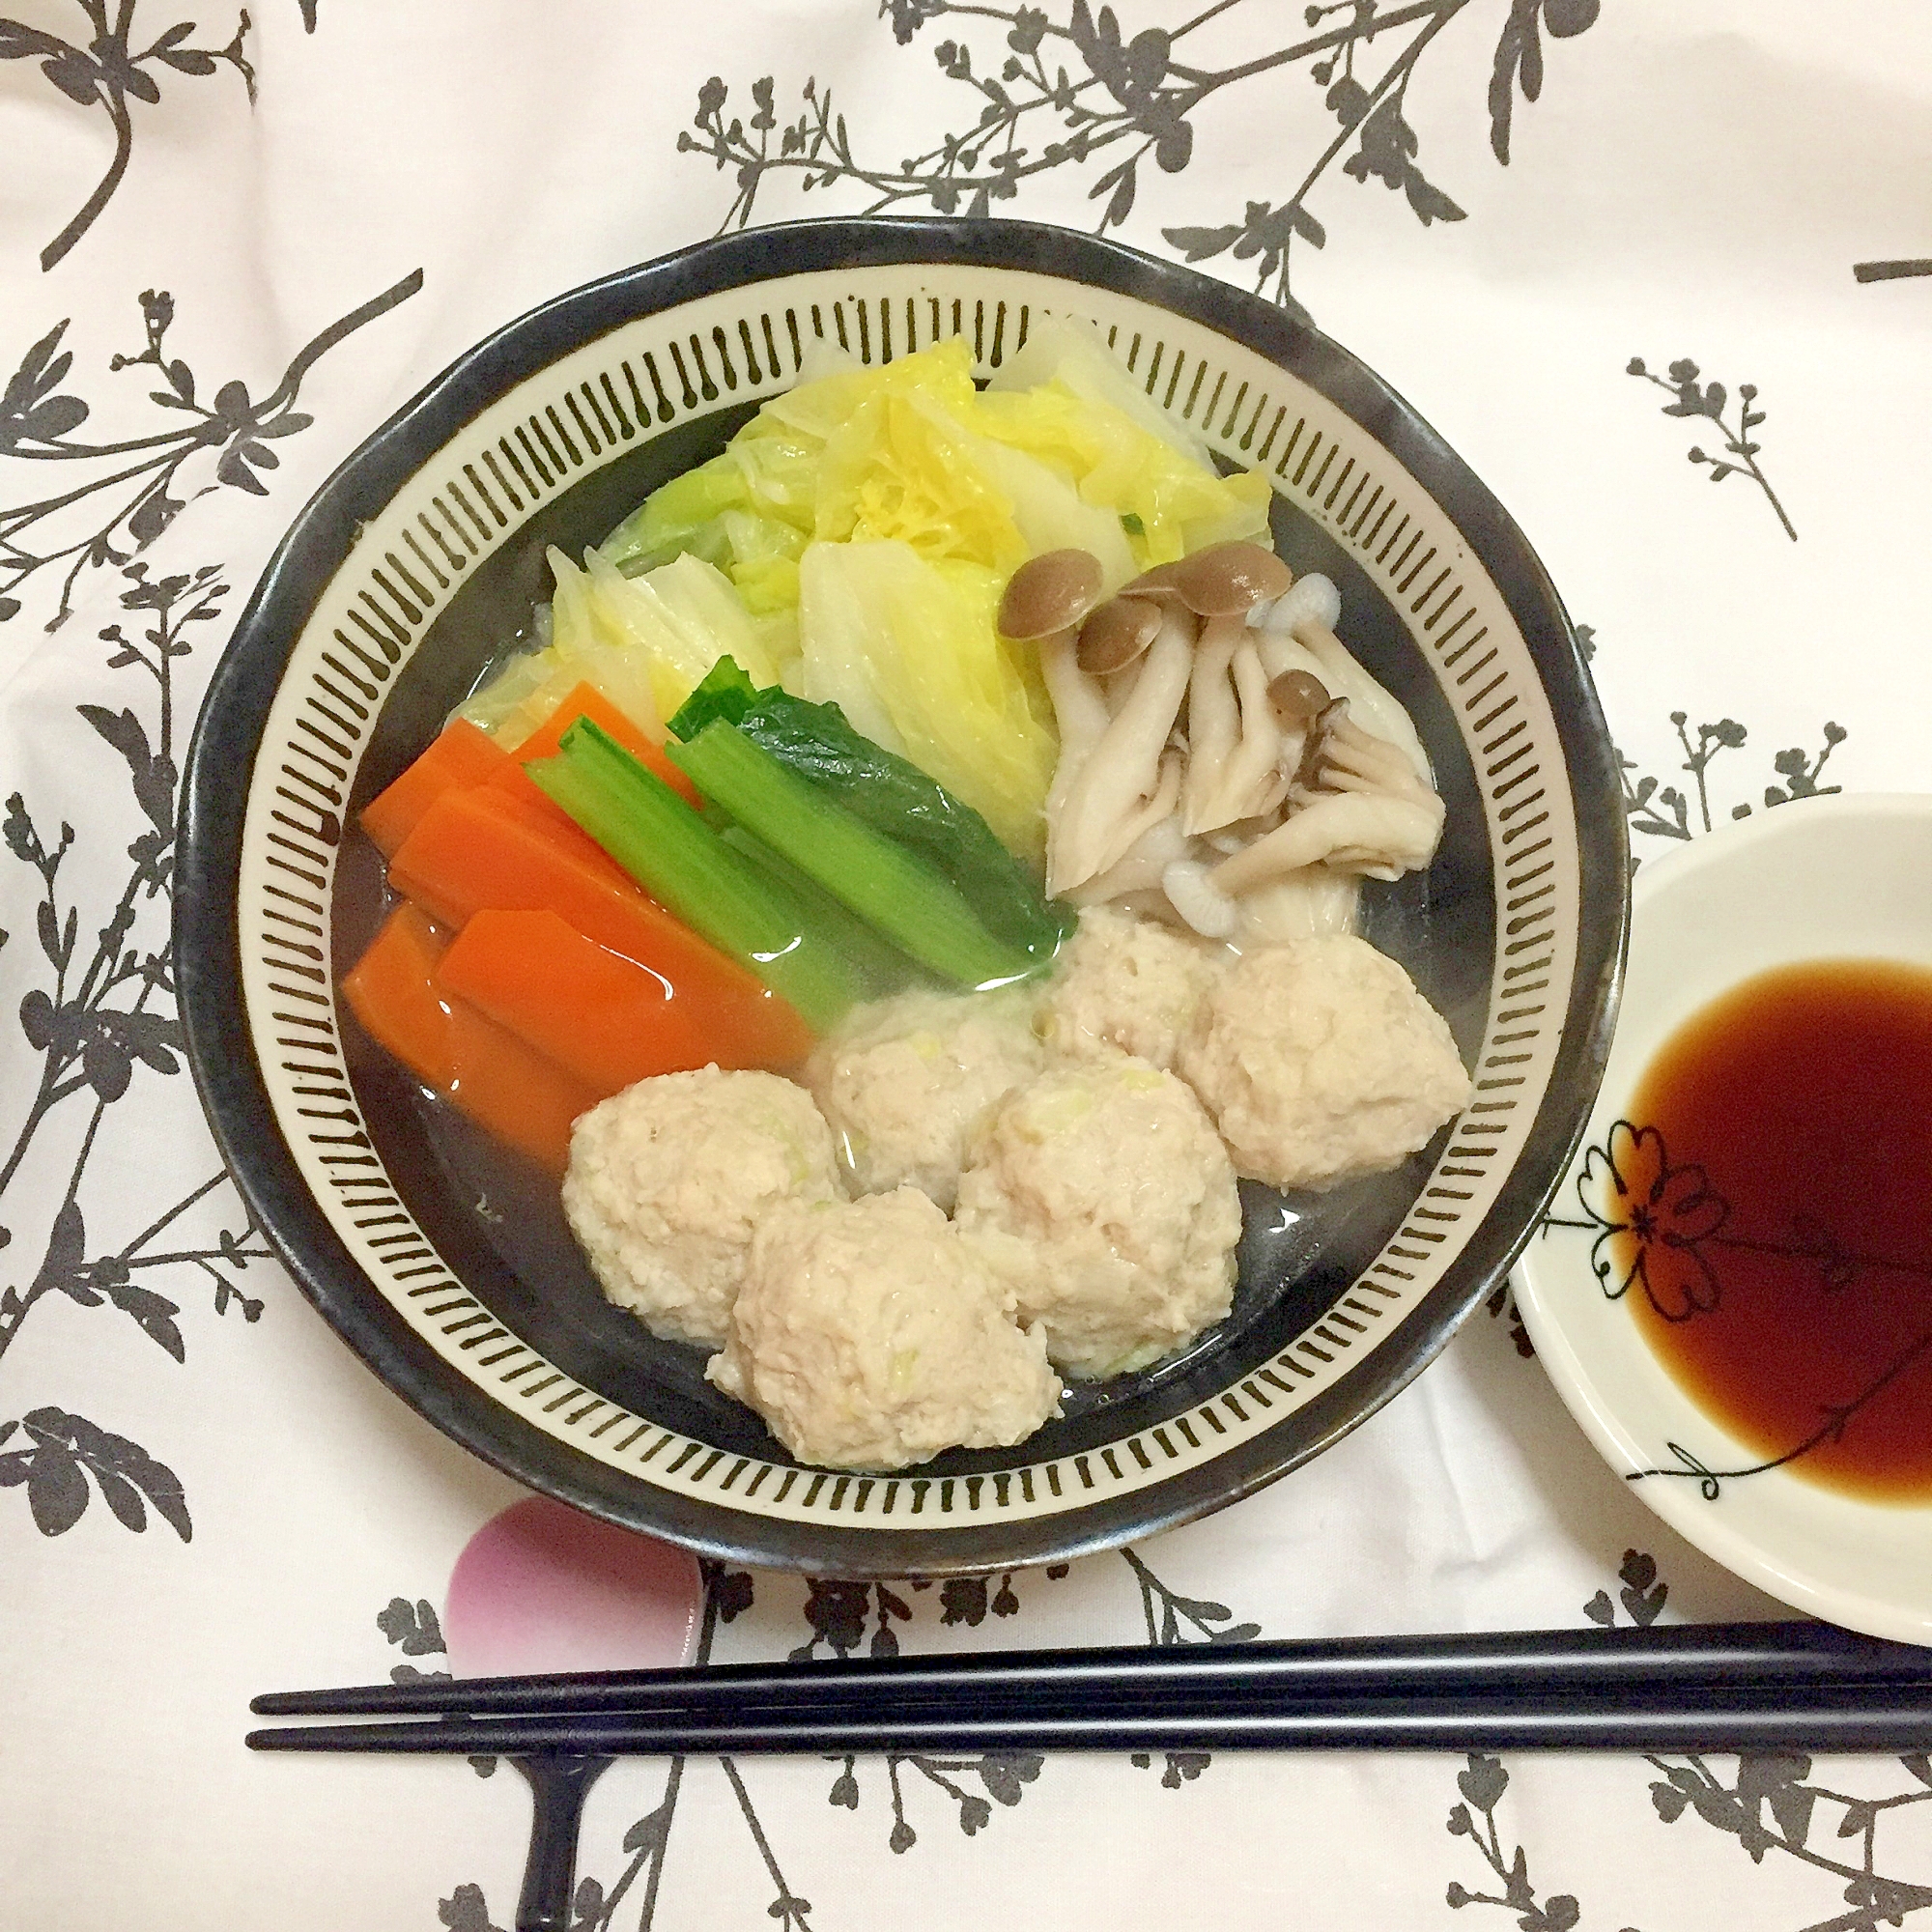
<path fill-rule="evenodd" d="M 707 724 L 665 753 L 753 838 L 943 980 L 997 985 L 1037 970 L 1018 947 L 1001 945 L 925 860 L 786 771 L 734 724 Z"/>

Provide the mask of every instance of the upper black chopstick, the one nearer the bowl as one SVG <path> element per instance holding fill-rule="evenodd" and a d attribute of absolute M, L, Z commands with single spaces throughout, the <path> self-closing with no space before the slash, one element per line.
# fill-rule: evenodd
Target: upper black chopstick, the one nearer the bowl
<path fill-rule="evenodd" d="M 1148 1708 L 1206 1708 L 1227 1698 L 1466 1696 L 1492 1687 L 1509 1696 L 1607 1696 L 1619 1689 L 1913 1683 L 1932 1685 L 1932 1650 L 1853 1636 L 1824 1623 L 1731 1623 L 429 1679 L 276 1690 L 249 1708 L 263 1718 L 721 1712 L 757 1721 L 767 1712 L 891 1716 L 958 1698 L 976 1708 L 1097 1708 L 1122 1696 Z"/>

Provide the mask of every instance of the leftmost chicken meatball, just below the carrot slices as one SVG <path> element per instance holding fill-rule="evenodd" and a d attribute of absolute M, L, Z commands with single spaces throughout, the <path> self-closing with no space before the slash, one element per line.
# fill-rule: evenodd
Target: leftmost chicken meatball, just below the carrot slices
<path fill-rule="evenodd" d="M 831 1130 L 777 1074 L 659 1074 L 570 1134 L 570 1231 L 607 1298 L 667 1341 L 723 1345 L 757 1219 L 837 1198 Z"/>

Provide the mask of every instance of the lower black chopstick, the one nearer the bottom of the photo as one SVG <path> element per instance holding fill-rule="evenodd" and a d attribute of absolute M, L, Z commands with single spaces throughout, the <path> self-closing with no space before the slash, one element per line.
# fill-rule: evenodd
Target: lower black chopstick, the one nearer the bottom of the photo
<path fill-rule="evenodd" d="M 572 1716 L 299 1725 L 255 1750 L 680 1756 L 1010 1750 L 1882 1750 L 1932 1748 L 1932 1687 L 1723 1685 L 1636 1694 L 1490 1687 L 1437 1696 L 1219 1700 L 1202 1710 L 929 1708 L 763 1718 Z"/>

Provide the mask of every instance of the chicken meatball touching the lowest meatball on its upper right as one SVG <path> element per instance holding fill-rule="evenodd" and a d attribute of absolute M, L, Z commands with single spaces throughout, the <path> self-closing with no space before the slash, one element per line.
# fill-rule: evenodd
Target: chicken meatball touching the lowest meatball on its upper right
<path fill-rule="evenodd" d="M 1240 1200 L 1200 1101 L 1132 1055 L 1068 1061 L 974 1132 L 958 1227 L 1068 1376 L 1144 1368 L 1233 1302 Z"/>

